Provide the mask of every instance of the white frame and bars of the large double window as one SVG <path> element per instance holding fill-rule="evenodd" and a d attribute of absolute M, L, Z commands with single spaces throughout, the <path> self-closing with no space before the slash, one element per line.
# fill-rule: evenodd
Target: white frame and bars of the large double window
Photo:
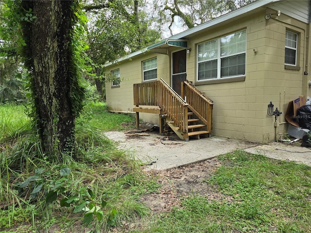
<path fill-rule="evenodd" d="M 245 33 L 245 41 L 244 41 L 244 47 L 245 49 L 243 51 L 238 51 L 236 53 L 232 53 L 232 54 L 226 54 L 226 55 L 223 55 L 221 54 L 221 39 L 222 38 L 225 38 L 226 36 L 230 36 L 230 35 L 234 35 L 236 33 L 240 33 L 240 32 L 244 32 Z M 209 43 L 211 41 L 217 41 L 217 57 L 216 58 L 209 58 L 207 60 L 204 60 L 204 61 L 199 61 L 199 46 L 200 45 L 203 45 L 205 43 Z M 233 57 L 233 56 L 237 56 L 237 55 L 241 55 L 241 54 L 244 54 L 245 56 L 245 73 L 246 73 L 246 30 L 241 30 L 241 31 L 237 31 L 237 32 L 234 32 L 234 33 L 229 33 L 229 34 L 226 34 L 224 36 L 221 36 L 221 37 L 218 37 L 218 38 L 213 38 L 212 40 L 209 40 L 209 41 L 206 41 L 204 43 L 200 43 L 197 45 L 197 82 L 204 82 L 204 81 L 210 81 L 210 80 L 217 80 L 217 79 L 229 79 L 229 78 L 237 78 L 237 77 L 244 77 L 245 76 L 245 73 L 244 74 L 238 74 L 238 75 L 228 75 L 228 76 L 224 76 L 222 77 L 221 76 L 221 66 L 222 66 L 222 59 L 224 58 L 227 58 L 227 57 Z M 200 63 L 205 63 L 205 62 L 209 62 L 209 61 L 214 61 L 214 60 L 217 60 L 217 77 L 215 78 L 206 78 L 206 79 L 201 79 L 199 80 L 199 64 Z"/>

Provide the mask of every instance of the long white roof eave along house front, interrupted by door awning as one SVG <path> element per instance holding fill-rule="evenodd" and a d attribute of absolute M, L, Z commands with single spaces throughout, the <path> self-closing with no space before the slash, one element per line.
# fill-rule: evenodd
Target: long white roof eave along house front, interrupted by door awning
<path fill-rule="evenodd" d="M 176 35 L 173 35 L 167 39 L 183 39 L 183 38 L 187 38 L 188 36 L 190 36 L 191 34 L 194 34 L 194 33 L 198 33 L 199 31 L 201 30 L 204 30 L 204 29 L 207 29 L 211 26 L 214 26 L 214 25 L 217 25 L 217 24 L 220 24 L 222 22 L 225 22 L 226 20 L 229 20 L 231 18 L 234 18 L 234 17 L 238 17 L 242 14 L 245 14 L 247 12 L 250 12 L 250 11 L 253 11 L 253 10 L 256 10 L 260 7 L 263 7 L 263 6 L 266 6 L 266 5 L 269 5 L 271 3 L 274 3 L 274 2 L 277 2 L 277 1 L 281 1 L 281 0 L 256 0 L 254 1 L 253 3 L 250 3 L 246 6 L 243 6 L 241 8 L 238 8 L 234 11 L 231 11 L 223 16 L 220 16 L 220 17 L 217 17 L 217 18 L 214 18 L 210 21 L 207 21 L 206 23 L 203 23 L 203 24 L 200 24 L 194 28 L 190 28 L 184 32 L 181 32 L 181 33 L 178 33 Z M 130 53 L 126 56 L 123 56 L 113 62 L 109 62 L 107 64 L 104 64 L 104 67 L 109 67 L 113 64 L 116 64 L 118 62 L 121 62 L 121 61 L 124 61 L 124 60 L 127 60 L 127 59 L 130 59 L 132 57 L 135 57 L 135 56 L 138 56 L 139 54 L 143 54 L 145 53 L 147 50 L 147 48 L 145 49 L 142 49 L 142 50 L 138 50 L 136 52 L 133 52 L 133 53 Z"/>

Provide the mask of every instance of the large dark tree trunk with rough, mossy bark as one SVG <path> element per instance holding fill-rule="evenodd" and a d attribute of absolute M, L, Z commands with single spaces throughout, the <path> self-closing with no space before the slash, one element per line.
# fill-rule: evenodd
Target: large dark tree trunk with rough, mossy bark
<path fill-rule="evenodd" d="M 37 18 L 28 29 L 27 46 L 42 147 L 47 154 L 70 152 L 75 126 L 70 99 L 74 1 L 34 0 L 31 4 Z"/>

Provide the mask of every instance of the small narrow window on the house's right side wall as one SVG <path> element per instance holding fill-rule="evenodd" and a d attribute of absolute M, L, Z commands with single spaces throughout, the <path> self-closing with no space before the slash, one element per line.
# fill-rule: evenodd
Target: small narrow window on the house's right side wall
<path fill-rule="evenodd" d="M 286 31 L 285 34 L 285 65 L 297 65 L 297 34 Z"/>

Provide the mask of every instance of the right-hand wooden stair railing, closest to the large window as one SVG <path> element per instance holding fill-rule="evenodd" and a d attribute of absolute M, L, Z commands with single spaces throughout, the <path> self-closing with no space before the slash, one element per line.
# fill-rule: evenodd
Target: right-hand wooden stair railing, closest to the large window
<path fill-rule="evenodd" d="M 186 98 L 190 110 L 207 125 L 207 131 L 211 132 L 213 101 L 188 80 L 182 83 L 181 96 Z"/>

